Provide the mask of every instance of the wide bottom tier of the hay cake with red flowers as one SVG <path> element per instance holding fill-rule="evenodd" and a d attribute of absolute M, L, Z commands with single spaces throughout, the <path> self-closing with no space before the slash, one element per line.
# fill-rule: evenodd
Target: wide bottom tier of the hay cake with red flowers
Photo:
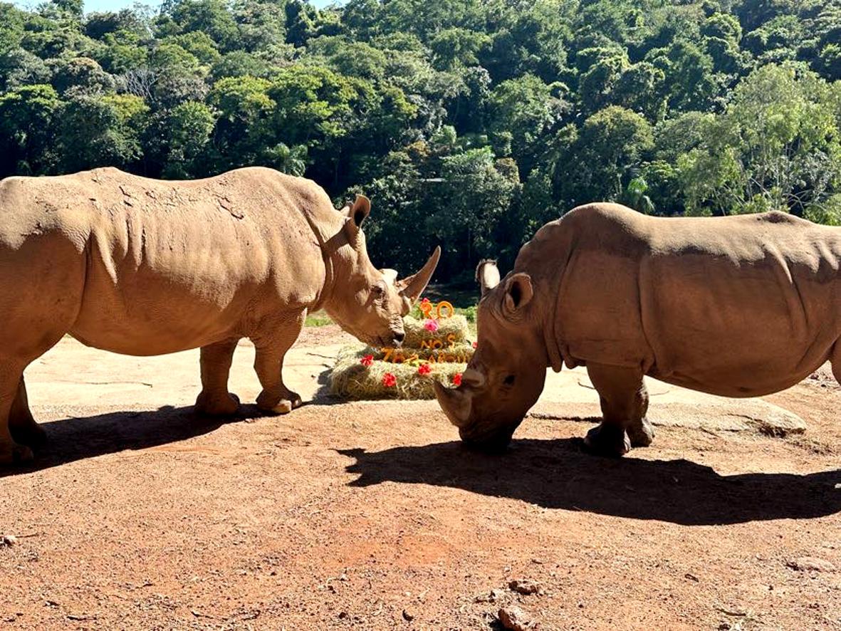
<path fill-rule="evenodd" d="M 472 347 L 470 352 L 473 353 Z M 330 374 L 331 394 L 355 400 L 434 399 L 433 380 L 452 384 L 453 375 L 463 373 L 467 367 L 466 363 L 429 363 L 430 374 L 419 374 L 421 361 L 390 363 L 375 359 L 370 366 L 360 363 L 366 355 L 376 358 L 378 354 L 382 355 L 378 349 L 371 347 L 341 349 Z M 394 386 L 383 384 L 386 374 L 394 375 Z"/>

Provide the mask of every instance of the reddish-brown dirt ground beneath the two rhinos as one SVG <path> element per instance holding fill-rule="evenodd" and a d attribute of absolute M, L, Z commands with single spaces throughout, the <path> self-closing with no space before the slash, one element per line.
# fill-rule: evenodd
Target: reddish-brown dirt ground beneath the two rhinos
<path fill-rule="evenodd" d="M 488 456 L 432 401 L 326 399 L 341 343 L 326 326 L 296 347 L 288 381 L 315 403 L 227 422 L 193 415 L 196 352 L 67 339 L 31 366 L 50 444 L 0 472 L 0 536 L 17 538 L 0 627 L 487 629 L 517 605 L 542 629 L 841 629 L 825 369 L 769 397 L 801 435 L 659 427 L 609 460 L 582 452 L 588 424 L 540 417 Z M 231 376 L 244 402 L 252 358 L 238 349 Z"/>

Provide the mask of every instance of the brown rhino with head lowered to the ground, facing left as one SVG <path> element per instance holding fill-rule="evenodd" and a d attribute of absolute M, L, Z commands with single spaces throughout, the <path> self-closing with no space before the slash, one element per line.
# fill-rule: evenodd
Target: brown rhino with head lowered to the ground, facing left
<path fill-rule="evenodd" d="M 841 228 L 780 212 L 658 218 L 589 204 L 544 225 L 479 303 L 458 389 L 437 399 L 466 443 L 504 448 L 547 367 L 586 366 L 622 455 L 653 438 L 643 376 L 713 395 L 784 390 L 832 362 L 841 381 Z"/>

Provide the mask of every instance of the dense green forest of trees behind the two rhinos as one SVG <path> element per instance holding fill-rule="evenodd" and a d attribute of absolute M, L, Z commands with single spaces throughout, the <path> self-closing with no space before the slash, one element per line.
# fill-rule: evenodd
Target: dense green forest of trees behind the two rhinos
<path fill-rule="evenodd" d="M 839 79 L 841 0 L 0 3 L 0 177 L 274 167 L 457 278 L 596 199 L 841 224 Z"/>

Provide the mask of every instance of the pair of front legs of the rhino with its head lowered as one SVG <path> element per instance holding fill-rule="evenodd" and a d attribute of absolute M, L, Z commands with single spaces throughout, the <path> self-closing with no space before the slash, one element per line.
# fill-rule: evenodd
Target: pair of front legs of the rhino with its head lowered
<path fill-rule="evenodd" d="M 648 392 L 642 371 L 588 363 L 587 374 L 600 396 L 602 422 L 587 432 L 586 446 L 601 455 L 621 456 L 651 444 L 654 432 L 645 418 Z"/>

